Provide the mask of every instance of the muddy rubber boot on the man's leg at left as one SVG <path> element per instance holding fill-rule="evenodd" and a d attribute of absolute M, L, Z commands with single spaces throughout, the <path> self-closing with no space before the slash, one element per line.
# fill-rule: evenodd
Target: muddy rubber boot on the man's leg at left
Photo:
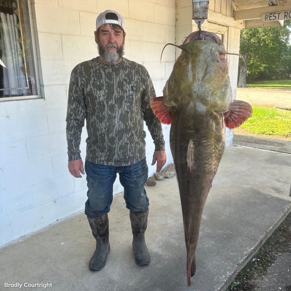
<path fill-rule="evenodd" d="M 96 239 L 96 250 L 90 259 L 89 269 L 99 271 L 104 268 L 107 255 L 110 251 L 109 221 L 107 213 L 96 218 L 88 218 L 92 234 Z"/>

